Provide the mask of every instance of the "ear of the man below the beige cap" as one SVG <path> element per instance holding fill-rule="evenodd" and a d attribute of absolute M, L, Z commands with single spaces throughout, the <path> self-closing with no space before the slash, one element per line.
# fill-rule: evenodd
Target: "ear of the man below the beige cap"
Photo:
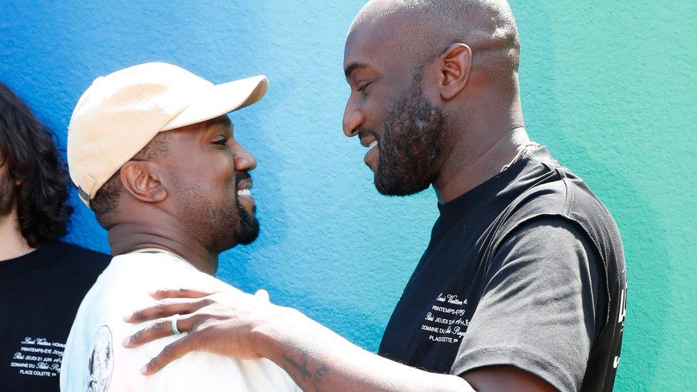
<path fill-rule="evenodd" d="M 121 166 L 121 183 L 134 198 L 159 203 L 167 198 L 167 189 L 157 169 L 158 165 L 152 161 L 128 161 Z"/>

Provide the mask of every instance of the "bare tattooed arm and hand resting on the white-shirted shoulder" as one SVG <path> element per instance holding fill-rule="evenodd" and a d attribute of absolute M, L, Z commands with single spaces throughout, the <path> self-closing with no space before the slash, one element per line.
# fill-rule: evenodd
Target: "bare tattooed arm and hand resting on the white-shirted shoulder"
<path fill-rule="evenodd" d="M 304 391 L 553 391 L 536 376 L 510 366 L 479 368 L 463 377 L 430 373 L 390 361 L 359 348 L 291 308 L 257 296 L 229 291 L 204 293 L 164 290 L 156 306 L 136 311 L 126 321 L 141 322 L 182 314 L 177 323 L 187 336 L 166 346 L 144 373 L 159 371 L 191 351 L 239 358 L 269 358 Z M 186 298 L 182 298 L 186 297 Z M 171 335 L 169 319 L 139 331 L 124 346 L 135 347 Z"/>

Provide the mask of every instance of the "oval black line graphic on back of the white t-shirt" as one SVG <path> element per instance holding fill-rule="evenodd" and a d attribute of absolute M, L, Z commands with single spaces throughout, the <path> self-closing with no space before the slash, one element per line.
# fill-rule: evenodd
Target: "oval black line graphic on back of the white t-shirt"
<path fill-rule="evenodd" d="M 111 330 L 108 326 L 101 326 L 92 339 L 87 366 L 87 391 L 106 392 L 113 370 L 114 347 L 111 345 Z"/>

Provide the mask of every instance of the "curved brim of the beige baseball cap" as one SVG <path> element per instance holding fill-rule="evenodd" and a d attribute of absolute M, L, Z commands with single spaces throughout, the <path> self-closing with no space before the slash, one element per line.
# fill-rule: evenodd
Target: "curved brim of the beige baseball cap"
<path fill-rule="evenodd" d="M 198 94 L 191 104 L 165 124 L 161 131 L 197 124 L 242 109 L 259 101 L 267 89 L 269 81 L 264 75 L 211 86 L 211 89 L 206 89 L 203 94 Z"/>

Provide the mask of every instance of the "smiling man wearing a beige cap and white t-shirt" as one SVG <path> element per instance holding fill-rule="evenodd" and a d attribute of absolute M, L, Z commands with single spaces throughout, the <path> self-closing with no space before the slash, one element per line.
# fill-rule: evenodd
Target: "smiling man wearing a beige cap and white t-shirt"
<path fill-rule="evenodd" d="M 254 241 L 256 161 L 232 136 L 226 114 L 259 101 L 264 76 L 214 85 L 164 63 L 97 78 L 68 131 L 70 176 L 109 231 L 114 258 L 82 301 L 66 343 L 63 391 L 284 391 L 297 386 L 269 360 L 191 353 L 155 376 L 139 367 L 181 338 L 126 350 L 138 326 L 124 314 L 152 303 L 161 286 L 220 288 L 219 253 Z M 249 306 L 268 298 L 250 296 Z M 143 325 L 141 325 L 142 327 Z"/>

